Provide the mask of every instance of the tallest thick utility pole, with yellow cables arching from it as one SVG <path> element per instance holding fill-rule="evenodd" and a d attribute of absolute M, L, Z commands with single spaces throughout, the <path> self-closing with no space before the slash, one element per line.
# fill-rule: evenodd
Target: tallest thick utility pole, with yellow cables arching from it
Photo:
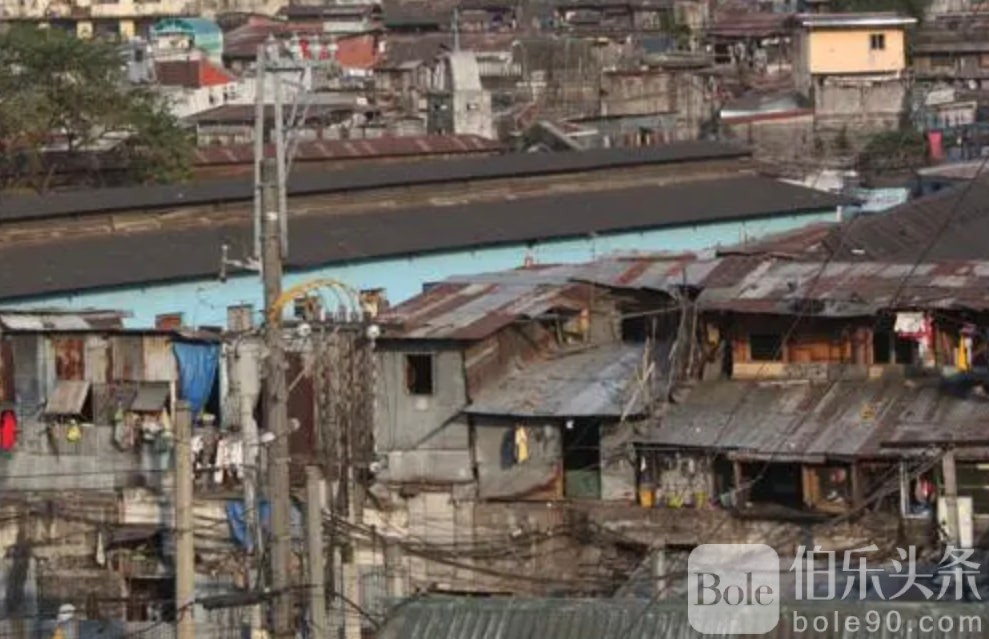
<path fill-rule="evenodd" d="M 268 456 L 268 500 L 271 503 L 271 586 L 274 590 L 274 635 L 294 636 L 289 563 L 292 557 L 291 503 L 289 501 L 288 392 L 285 383 L 285 350 L 281 309 L 281 220 L 278 208 L 278 168 L 266 158 L 262 179 L 262 273 L 264 276 L 265 342 L 268 353 L 265 376 L 265 412 L 268 431 L 274 435 Z"/>

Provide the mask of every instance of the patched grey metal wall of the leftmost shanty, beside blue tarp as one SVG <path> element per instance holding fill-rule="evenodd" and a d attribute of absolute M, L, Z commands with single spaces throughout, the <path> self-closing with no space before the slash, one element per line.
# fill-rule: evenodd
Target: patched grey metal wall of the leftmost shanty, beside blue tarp
<path fill-rule="evenodd" d="M 5 336 L 8 347 L 20 423 L 14 449 L 0 465 L 0 490 L 109 491 L 158 484 L 168 453 L 151 454 L 140 444 L 121 449 L 112 420 L 115 398 L 133 398 L 143 382 L 177 380 L 168 337 L 22 333 Z M 73 442 L 66 426 L 50 428 L 43 413 L 59 381 L 81 380 L 90 382 L 92 420 L 80 425 L 82 436 Z"/>

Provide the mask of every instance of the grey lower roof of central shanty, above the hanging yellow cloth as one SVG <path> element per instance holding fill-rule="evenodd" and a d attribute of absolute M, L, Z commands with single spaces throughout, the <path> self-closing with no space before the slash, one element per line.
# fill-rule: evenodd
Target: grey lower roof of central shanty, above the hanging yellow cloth
<path fill-rule="evenodd" d="M 467 413 L 513 417 L 620 417 L 646 411 L 648 392 L 636 393 L 645 354 L 640 345 L 615 344 L 560 353 L 485 387 Z"/>

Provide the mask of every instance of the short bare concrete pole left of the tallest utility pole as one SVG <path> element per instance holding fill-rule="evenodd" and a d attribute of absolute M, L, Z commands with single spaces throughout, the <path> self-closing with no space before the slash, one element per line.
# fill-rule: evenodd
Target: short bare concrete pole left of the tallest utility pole
<path fill-rule="evenodd" d="M 189 402 L 175 407 L 175 606 L 178 639 L 194 639 L 196 625 L 196 549 L 192 519 L 192 415 Z"/>

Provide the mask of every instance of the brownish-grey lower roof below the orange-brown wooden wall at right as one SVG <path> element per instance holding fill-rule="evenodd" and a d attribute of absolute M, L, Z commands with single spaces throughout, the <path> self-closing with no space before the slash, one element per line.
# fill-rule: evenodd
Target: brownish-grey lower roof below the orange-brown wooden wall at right
<path fill-rule="evenodd" d="M 890 442 L 916 442 L 906 450 L 917 452 L 987 421 L 989 399 L 937 378 L 716 381 L 671 405 L 646 439 L 779 461 L 876 458 L 905 453 Z"/>

